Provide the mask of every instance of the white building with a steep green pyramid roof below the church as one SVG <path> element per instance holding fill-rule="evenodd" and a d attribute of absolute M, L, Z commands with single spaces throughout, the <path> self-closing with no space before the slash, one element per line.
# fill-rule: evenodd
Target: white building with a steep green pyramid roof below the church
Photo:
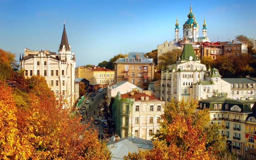
<path fill-rule="evenodd" d="M 217 93 L 230 96 L 230 84 L 216 68 L 207 70 L 196 57 L 192 44 L 185 44 L 177 62 L 162 70 L 160 97 L 164 101 L 206 99 Z"/>

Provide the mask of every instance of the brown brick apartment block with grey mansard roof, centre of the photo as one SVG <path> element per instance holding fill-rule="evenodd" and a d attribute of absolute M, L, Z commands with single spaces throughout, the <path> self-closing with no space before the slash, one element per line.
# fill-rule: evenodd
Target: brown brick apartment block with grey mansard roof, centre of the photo
<path fill-rule="evenodd" d="M 129 53 L 128 57 L 119 58 L 115 64 L 115 83 L 129 81 L 142 89 L 147 89 L 154 78 L 155 63 L 144 57 L 144 53 Z"/>

